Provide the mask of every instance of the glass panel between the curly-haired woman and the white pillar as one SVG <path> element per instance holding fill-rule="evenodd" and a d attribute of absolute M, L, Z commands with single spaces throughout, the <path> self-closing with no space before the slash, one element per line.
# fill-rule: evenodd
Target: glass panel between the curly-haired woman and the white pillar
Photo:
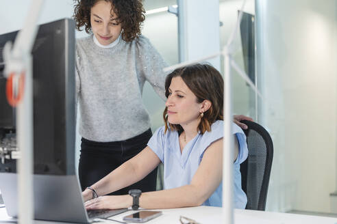
<path fill-rule="evenodd" d="M 177 5 L 176 1 L 144 1 L 147 11 L 142 34 L 149 38 L 160 55 L 168 65 L 177 64 L 178 53 L 178 27 L 177 16 L 167 11 L 169 5 Z M 145 83 L 142 95 L 145 107 L 151 118 L 151 129 L 154 132 L 164 125 L 162 113 L 165 105 L 164 100 L 155 93 L 149 83 Z"/>

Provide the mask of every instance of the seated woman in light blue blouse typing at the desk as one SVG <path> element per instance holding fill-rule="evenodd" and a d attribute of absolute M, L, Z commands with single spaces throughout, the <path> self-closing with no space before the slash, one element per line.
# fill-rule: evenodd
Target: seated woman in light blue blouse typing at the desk
<path fill-rule="evenodd" d="M 179 68 L 165 82 L 165 126 L 156 130 L 147 147 L 91 186 L 106 195 L 142 180 L 164 163 L 164 190 L 142 193 L 142 208 L 221 206 L 223 163 L 223 78 L 208 64 Z M 240 163 L 248 155 L 246 137 L 233 123 L 234 207 L 244 209 Z M 132 173 L 132 174 L 131 174 Z M 83 192 L 87 209 L 132 206 L 129 195 L 92 199 Z M 89 200 L 89 201 L 88 201 Z"/>

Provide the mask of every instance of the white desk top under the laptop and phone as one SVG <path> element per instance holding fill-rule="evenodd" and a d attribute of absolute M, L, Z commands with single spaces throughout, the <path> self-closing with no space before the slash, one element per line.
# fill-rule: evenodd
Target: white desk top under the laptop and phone
<path fill-rule="evenodd" d="M 155 218 L 147 224 L 160 223 L 160 224 L 180 224 L 179 216 L 186 216 L 190 219 L 201 224 L 208 223 L 223 223 L 221 220 L 221 208 L 209 207 L 209 206 L 199 206 L 194 208 L 176 208 L 161 210 L 163 214 L 158 218 Z M 118 221 L 123 220 L 123 216 L 127 214 L 132 214 L 134 211 L 128 211 L 123 214 L 118 214 L 111 219 L 116 219 Z M 253 210 L 235 210 L 234 219 L 236 223 L 249 223 L 249 224 L 281 224 L 281 223 L 331 223 L 337 224 L 337 218 L 323 217 L 323 216 L 308 216 L 302 214 L 288 214 L 279 212 L 260 212 Z M 9 220 L 5 209 L 0 208 L 0 223 L 4 223 L 4 220 Z M 8 222 L 10 223 L 10 222 Z M 36 224 L 57 224 L 58 222 L 49 221 L 35 221 Z M 116 223 L 114 221 L 101 221 L 99 223 Z M 60 224 L 60 223 L 58 223 Z"/>

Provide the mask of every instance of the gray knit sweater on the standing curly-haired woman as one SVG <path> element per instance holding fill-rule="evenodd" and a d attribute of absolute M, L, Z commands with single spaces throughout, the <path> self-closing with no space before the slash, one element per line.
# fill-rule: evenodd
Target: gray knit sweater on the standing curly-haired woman
<path fill-rule="evenodd" d="M 77 40 L 76 92 L 79 135 L 91 141 L 122 141 L 150 128 L 142 104 L 148 81 L 163 99 L 167 66 L 144 36 L 101 48 L 92 36 Z"/>

